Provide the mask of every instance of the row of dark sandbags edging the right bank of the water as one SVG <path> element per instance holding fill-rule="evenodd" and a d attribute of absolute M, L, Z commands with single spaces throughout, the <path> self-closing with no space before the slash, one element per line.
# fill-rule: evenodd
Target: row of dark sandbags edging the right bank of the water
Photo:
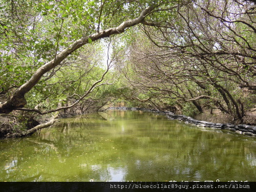
<path fill-rule="evenodd" d="M 112 107 L 109 109 L 110 110 L 115 110 L 115 109 L 116 110 L 139 110 L 139 111 L 146 111 L 146 112 L 152 112 L 152 113 L 159 113 L 159 114 L 166 115 L 168 119 L 180 120 L 180 121 L 184 121 L 185 123 L 193 124 L 196 126 L 209 127 L 211 129 L 219 129 L 219 130 L 230 130 L 237 134 L 256 137 L 256 126 L 252 126 L 252 125 L 246 125 L 246 124 L 236 125 L 231 123 L 213 123 L 213 122 L 207 122 L 207 121 L 200 121 L 185 115 L 175 115 L 172 112 L 159 111 L 154 109 L 151 110 L 151 109 L 143 109 L 143 108 L 126 108 L 126 107 L 115 107 L 115 108 Z"/>

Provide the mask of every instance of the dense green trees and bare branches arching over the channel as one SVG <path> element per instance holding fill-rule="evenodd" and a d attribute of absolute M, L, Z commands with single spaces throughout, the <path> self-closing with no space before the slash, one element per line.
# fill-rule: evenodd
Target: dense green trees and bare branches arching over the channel
<path fill-rule="evenodd" d="M 113 102 L 244 121 L 255 104 L 252 1 L 1 0 L 0 113 Z"/>

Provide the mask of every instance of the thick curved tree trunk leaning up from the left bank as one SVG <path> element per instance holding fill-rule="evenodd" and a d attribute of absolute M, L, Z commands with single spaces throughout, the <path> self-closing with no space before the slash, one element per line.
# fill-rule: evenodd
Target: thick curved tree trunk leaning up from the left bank
<path fill-rule="evenodd" d="M 109 37 L 114 34 L 123 33 L 126 28 L 142 23 L 144 18 L 149 13 L 151 13 L 153 9 L 153 6 L 147 7 L 140 13 L 139 17 L 135 19 L 127 20 L 118 27 L 110 28 L 107 30 L 101 30 L 97 33 L 94 33 L 87 37 L 83 37 L 73 42 L 73 44 L 71 44 L 69 47 L 61 51 L 59 54 L 57 54 L 55 58 L 47 62 L 45 65 L 41 66 L 39 69 L 37 69 L 37 71 L 32 75 L 32 77 L 22 86 L 20 86 L 7 101 L 0 102 L 0 114 L 7 114 L 17 108 L 23 108 L 27 103 L 25 99 L 25 94 L 28 93 L 35 86 L 35 84 L 40 80 L 42 75 L 58 66 L 60 62 L 67 58 L 71 53 L 73 53 L 83 45 L 88 44 L 89 41 L 95 41 L 101 38 Z"/>

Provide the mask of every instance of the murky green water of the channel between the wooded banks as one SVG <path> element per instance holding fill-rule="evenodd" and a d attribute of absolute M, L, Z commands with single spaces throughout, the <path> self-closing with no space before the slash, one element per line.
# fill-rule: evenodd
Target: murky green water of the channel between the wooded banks
<path fill-rule="evenodd" d="M 0 140 L 0 181 L 256 181 L 256 139 L 140 111 Z"/>

